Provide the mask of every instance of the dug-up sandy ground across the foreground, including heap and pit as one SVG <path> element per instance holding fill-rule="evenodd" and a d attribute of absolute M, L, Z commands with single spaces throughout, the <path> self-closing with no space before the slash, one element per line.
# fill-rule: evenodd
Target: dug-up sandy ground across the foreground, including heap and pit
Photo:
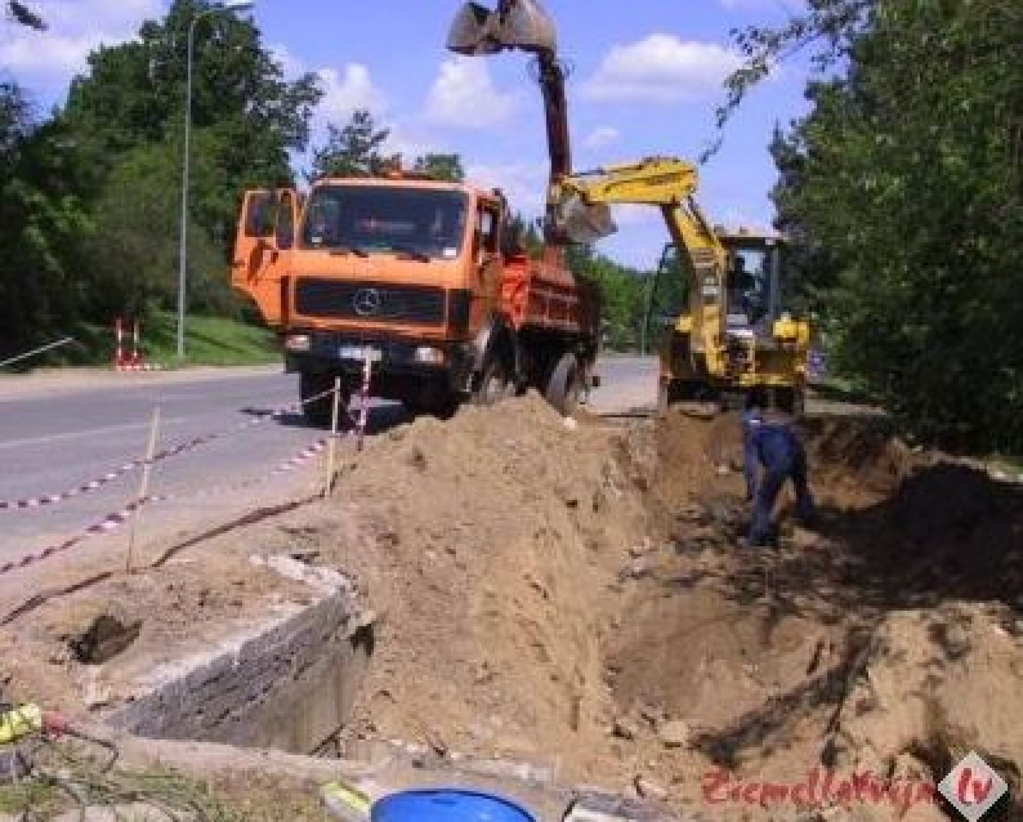
<path fill-rule="evenodd" d="M 780 545 L 751 551 L 733 417 L 566 422 L 529 396 L 419 419 L 348 457 L 330 499 L 8 621 L 5 689 L 116 701 L 119 670 L 271 607 L 287 592 L 249 556 L 288 553 L 377 616 L 350 756 L 549 764 L 690 818 L 927 820 L 952 818 L 920 797 L 975 750 L 1018 797 L 1023 495 L 873 417 L 805 433 L 822 521 L 786 503 Z M 133 636 L 97 695 L 75 649 L 101 613 Z"/>

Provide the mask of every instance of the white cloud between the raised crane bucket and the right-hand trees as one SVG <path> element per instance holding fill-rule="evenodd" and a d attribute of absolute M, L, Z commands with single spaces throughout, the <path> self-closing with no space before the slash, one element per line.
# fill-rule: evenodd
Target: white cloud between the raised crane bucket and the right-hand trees
<path fill-rule="evenodd" d="M 583 93 L 596 100 L 673 102 L 720 90 L 741 56 L 718 43 L 652 34 L 605 55 Z"/>

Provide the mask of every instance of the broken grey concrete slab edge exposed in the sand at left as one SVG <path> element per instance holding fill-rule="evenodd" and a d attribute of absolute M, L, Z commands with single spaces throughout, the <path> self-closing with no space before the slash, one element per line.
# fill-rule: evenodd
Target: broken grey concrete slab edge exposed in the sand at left
<path fill-rule="evenodd" d="M 345 725 L 372 653 L 347 581 L 278 558 L 306 581 L 312 604 L 284 603 L 262 625 L 203 654 L 145 672 L 130 695 L 100 713 L 139 736 L 318 749 Z"/>

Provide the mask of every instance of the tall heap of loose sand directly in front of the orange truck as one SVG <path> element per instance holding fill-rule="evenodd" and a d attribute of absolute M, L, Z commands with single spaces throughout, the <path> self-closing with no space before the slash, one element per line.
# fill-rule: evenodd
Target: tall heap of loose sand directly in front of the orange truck
<path fill-rule="evenodd" d="M 573 761 L 606 739 L 609 586 L 647 530 L 621 437 L 529 395 L 416 420 L 345 466 L 301 549 L 353 570 L 382 616 L 353 732 Z"/>

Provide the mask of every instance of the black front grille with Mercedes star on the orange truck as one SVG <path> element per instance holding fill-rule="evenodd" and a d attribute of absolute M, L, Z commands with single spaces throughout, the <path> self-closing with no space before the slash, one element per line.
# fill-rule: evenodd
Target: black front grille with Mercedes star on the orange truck
<path fill-rule="evenodd" d="M 421 325 L 444 322 L 443 288 L 372 282 L 338 282 L 300 277 L 295 283 L 295 311 L 305 317 L 383 320 Z"/>

